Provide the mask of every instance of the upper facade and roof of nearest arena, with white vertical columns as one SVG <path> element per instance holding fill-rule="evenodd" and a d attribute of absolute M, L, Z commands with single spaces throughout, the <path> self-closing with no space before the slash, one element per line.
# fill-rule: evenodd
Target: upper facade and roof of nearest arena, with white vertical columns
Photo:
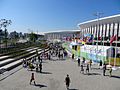
<path fill-rule="evenodd" d="M 100 37 L 106 45 L 110 38 L 116 35 L 117 40 L 113 42 L 113 46 L 116 42 L 117 46 L 120 46 L 120 14 L 79 23 L 78 26 L 82 36 L 92 34 L 94 38 L 96 37 L 96 41 Z"/>

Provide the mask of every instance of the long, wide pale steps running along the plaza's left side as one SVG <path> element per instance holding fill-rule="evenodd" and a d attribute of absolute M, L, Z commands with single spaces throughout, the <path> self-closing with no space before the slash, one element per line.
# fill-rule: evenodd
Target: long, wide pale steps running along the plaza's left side
<path fill-rule="evenodd" d="M 0 74 L 3 74 L 5 71 L 9 71 L 21 65 L 23 58 L 26 58 L 26 60 L 30 60 L 34 56 L 37 56 L 36 49 L 38 50 L 38 54 L 44 52 L 44 50 L 37 47 L 21 49 L 16 52 L 0 55 Z M 45 49 L 45 52 L 48 50 L 49 49 Z"/>

